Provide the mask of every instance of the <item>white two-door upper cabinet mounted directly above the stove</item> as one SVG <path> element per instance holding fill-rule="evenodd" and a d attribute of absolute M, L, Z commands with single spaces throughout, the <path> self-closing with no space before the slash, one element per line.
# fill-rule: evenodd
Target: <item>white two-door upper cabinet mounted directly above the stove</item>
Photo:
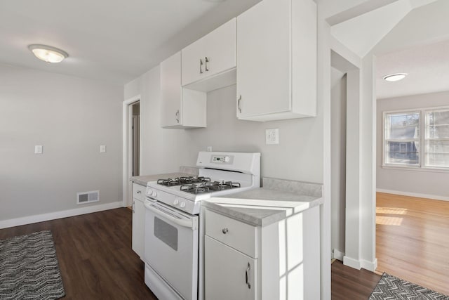
<path fill-rule="evenodd" d="M 232 77 L 227 71 L 236 67 L 236 18 L 185 47 L 181 53 L 182 86 L 211 91 L 235 84 L 235 73 Z M 199 82 L 217 75 L 221 79 L 212 79 L 212 84 Z"/>

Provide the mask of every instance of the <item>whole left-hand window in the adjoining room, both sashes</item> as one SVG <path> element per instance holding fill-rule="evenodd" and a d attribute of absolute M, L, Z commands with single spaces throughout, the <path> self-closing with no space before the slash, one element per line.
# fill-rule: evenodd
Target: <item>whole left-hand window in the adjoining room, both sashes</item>
<path fill-rule="evenodd" d="M 420 165 L 420 112 L 384 114 L 384 164 Z"/>

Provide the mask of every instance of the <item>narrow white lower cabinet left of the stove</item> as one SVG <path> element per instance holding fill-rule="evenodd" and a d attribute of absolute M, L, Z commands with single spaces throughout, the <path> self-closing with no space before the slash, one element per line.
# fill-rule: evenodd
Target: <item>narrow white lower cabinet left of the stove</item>
<path fill-rule="evenodd" d="M 144 258 L 145 254 L 145 186 L 133 183 L 133 250 Z"/>

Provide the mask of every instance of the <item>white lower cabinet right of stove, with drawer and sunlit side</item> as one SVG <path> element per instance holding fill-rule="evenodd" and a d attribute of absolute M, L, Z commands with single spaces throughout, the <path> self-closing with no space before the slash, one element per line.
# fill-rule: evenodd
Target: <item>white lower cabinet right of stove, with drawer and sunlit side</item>
<path fill-rule="evenodd" d="M 319 207 L 267 226 L 201 211 L 204 299 L 321 299 Z"/>

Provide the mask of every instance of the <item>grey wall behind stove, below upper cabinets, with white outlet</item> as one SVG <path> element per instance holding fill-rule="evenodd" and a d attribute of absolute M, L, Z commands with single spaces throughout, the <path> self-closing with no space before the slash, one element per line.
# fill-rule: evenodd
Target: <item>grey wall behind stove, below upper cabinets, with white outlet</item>
<path fill-rule="evenodd" d="M 196 162 L 200 150 L 261 152 L 262 176 L 322 183 L 323 124 L 319 117 L 279 122 L 236 118 L 236 86 L 208 93 L 208 126 L 186 130 L 181 164 Z M 265 144 L 265 129 L 279 129 L 279 145 Z"/>

